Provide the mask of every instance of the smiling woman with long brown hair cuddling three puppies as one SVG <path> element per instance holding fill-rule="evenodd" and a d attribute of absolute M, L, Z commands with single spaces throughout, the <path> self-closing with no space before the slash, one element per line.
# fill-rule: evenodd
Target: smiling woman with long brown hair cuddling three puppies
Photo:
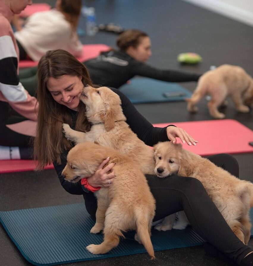
<path fill-rule="evenodd" d="M 80 101 L 84 86 L 92 86 L 89 73 L 86 67 L 67 51 L 54 50 L 48 51 L 40 59 L 38 81 L 39 112 L 34 143 L 34 157 L 39 162 L 38 167 L 43 168 L 53 162 L 62 187 L 70 194 L 82 195 L 87 212 L 95 220 L 97 200 L 92 191 L 98 187 L 112 186 L 117 181 L 113 172 L 114 164 L 103 168 L 109 158 L 101 162 L 95 174 L 87 177 L 89 186 L 87 183 L 82 184 L 81 180 L 75 183 L 67 182 L 61 175 L 67 163 L 67 153 L 73 145 L 63 136 L 62 123 L 83 132 L 92 126 L 85 117 L 85 105 Z M 114 88 L 111 90 L 120 96 L 126 122 L 145 144 L 153 146 L 158 141 L 168 140 L 176 143 L 177 137 L 188 145 L 197 143 L 186 131 L 175 126 L 153 127 L 124 94 Z M 232 156 L 220 154 L 208 159 L 238 176 L 238 164 Z M 112 172 L 107 174 L 111 169 Z M 210 247 L 217 248 L 224 257 L 233 260 L 237 265 L 252 265 L 252 249 L 244 245 L 232 232 L 200 181 L 196 178 L 177 176 L 157 178 L 147 175 L 146 178 L 156 201 L 154 221 L 184 210 L 191 226 L 210 243 Z"/>

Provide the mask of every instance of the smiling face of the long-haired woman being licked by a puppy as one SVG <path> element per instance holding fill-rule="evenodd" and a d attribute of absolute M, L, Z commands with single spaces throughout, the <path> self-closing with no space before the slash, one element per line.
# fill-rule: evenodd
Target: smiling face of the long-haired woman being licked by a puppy
<path fill-rule="evenodd" d="M 77 111 L 84 88 L 81 77 L 70 75 L 50 77 L 46 86 L 56 102 Z"/>

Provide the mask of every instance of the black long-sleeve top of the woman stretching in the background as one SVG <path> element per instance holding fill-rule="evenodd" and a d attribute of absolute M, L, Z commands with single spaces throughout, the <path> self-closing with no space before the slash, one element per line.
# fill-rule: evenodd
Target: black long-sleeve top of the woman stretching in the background
<path fill-rule="evenodd" d="M 87 60 L 88 68 L 94 84 L 119 88 L 132 77 L 139 75 L 169 82 L 198 81 L 201 75 L 176 70 L 162 70 L 135 60 L 127 53 L 109 51 Z"/>

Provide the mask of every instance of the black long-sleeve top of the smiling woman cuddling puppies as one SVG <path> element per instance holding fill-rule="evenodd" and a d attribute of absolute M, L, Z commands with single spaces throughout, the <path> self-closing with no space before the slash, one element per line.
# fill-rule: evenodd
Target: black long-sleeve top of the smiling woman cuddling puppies
<path fill-rule="evenodd" d="M 152 124 L 150 124 L 146 118 L 144 118 L 133 106 L 133 104 L 129 101 L 129 99 L 122 94 L 117 89 L 111 88 L 112 91 L 117 93 L 120 96 L 121 102 L 122 102 L 122 110 L 127 118 L 126 122 L 130 126 L 130 128 L 133 130 L 134 133 L 137 134 L 139 139 L 141 139 L 145 144 L 149 146 L 153 146 L 158 141 L 168 141 L 167 133 L 166 133 L 166 127 L 159 128 L 159 127 L 153 127 Z M 76 123 L 76 115 L 77 112 L 70 109 L 70 113 L 73 117 L 73 123 L 72 128 L 75 127 Z M 54 168 L 56 170 L 56 173 L 59 177 L 59 180 L 62 184 L 62 187 L 69 192 L 70 194 L 76 194 L 81 195 L 84 194 L 84 190 L 81 188 L 80 181 L 78 183 L 70 183 L 66 182 L 65 179 L 62 177 L 62 170 L 64 169 L 65 165 L 67 164 L 67 153 L 68 151 L 64 151 L 61 154 L 61 164 L 57 164 L 54 162 Z"/>

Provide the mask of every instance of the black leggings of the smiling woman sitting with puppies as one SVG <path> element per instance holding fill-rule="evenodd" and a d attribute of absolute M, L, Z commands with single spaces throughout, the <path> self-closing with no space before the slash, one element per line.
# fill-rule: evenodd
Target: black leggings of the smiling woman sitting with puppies
<path fill-rule="evenodd" d="M 239 176 L 238 163 L 232 156 L 217 154 L 207 158 L 232 175 Z M 156 200 L 154 221 L 184 210 L 196 232 L 238 265 L 252 251 L 232 232 L 202 183 L 196 178 L 177 176 L 158 178 L 147 175 L 147 180 Z M 86 193 L 84 199 L 87 211 L 95 220 L 97 204 L 94 195 Z"/>

